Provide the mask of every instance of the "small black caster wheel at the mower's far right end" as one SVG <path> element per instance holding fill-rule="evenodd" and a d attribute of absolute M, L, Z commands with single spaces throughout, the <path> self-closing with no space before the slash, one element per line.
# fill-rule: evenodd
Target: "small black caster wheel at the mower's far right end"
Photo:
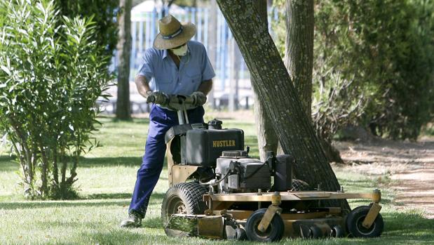
<path fill-rule="evenodd" d="M 358 206 L 346 216 L 346 230 L 353 237 L 379 237 L 383 232 L 384 221 L 381 214 L 378 214 L 369 229 L 362 226 L 369 209 L 369 206 Z"/>

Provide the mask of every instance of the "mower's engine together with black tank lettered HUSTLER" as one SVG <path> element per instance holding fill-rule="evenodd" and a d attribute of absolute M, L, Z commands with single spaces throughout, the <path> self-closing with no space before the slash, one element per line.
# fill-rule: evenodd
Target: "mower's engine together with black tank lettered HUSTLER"
<path fill-rule="evenodd" d="M 165 136 L 166 142 L 172 140 L 172 178 L 182 176 L 172 174 L 176 168 L 217 194 L 292 189 L 293 159 L 279 159 L 273 152 L 267 152 L 266 161 L 249 157 L 249 147 L 243 150 L 244 132 L 239 128 L 222 128 L 222 121 L 214 119 L 208 124 L 174 126 Z M 186 171 L 187 166 L 194 170 Z"/>

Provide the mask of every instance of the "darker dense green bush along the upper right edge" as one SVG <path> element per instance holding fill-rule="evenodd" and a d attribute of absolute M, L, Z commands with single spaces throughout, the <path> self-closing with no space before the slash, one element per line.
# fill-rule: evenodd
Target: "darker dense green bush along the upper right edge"
<path fill-rule="evenodd" d="M 383 110 L 369 108 L 366 119 L 374 133 L 416 140 L 434 118 L 434 2 L 409 0 L 403 12 L 391 41 L 394 73 L 380 84 Z"/>

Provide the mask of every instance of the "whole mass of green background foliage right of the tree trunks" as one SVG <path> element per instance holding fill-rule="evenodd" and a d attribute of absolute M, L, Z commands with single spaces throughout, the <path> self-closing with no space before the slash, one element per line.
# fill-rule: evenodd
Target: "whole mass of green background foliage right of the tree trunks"
<path fill-rule="evenodd" d="M 433 13 L 425 0 L 316 1 L 313 121 L 323 138 L 346 124 L 417 138 L 433 119 Z M 281 52 L 283 18 L 275 24 Z"/>

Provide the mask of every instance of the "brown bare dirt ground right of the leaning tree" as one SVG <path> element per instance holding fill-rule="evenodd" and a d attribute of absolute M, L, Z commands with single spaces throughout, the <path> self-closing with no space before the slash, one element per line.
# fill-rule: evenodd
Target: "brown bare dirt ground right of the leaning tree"
<path fill-rule="evenodd" d="M 417 143 L 372 138 L 335 143 L 348 171 L 391 178 L 400 208 L 421 208 L 434 218 L 434 137 Z"/>

